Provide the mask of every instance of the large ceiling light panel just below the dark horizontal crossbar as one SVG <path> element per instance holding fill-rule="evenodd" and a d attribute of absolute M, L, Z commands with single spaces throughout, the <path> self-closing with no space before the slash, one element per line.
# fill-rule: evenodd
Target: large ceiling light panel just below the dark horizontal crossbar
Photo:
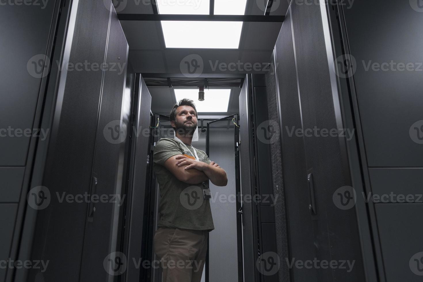
<path fill-rule="evenodd" d="M 162 21 L 166 48 L 238 49 L 242 22 Z"/>

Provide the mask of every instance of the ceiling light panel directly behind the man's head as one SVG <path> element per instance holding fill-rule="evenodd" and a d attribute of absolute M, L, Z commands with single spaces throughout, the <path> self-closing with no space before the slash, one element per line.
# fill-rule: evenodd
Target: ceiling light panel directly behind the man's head
<path fill-rule="evenodd" d="M 231 89 L 204 89 L 204 101 L 198 101 L 198 88 L 174 90 L 176 101 L 191 99 L 197 112 L 228 112 Z"/>

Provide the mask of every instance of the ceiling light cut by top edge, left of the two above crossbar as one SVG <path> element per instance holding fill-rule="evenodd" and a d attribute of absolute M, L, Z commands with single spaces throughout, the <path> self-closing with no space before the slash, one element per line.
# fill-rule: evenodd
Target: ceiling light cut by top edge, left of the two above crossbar
<path fill-rule="evenodd" d="M 209 0 L 156 0 L 159 14 L 208 15 Z"/>

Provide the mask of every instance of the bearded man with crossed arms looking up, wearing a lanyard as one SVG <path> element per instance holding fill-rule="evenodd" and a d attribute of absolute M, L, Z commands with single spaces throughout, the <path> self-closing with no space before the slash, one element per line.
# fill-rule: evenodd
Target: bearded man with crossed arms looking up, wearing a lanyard
<path fill-rule="evenodd" d="M 225 170 L 191 145 L 197 118 L 194 102 L 180 100 L 170 112 L 175 138 L 162 138 L 154 147 L 161 195 L 154 251 L 162 261 L 162 282 L 201 281 L 208 233 L 214 229 L 206 183 L 228 183 Z"/>

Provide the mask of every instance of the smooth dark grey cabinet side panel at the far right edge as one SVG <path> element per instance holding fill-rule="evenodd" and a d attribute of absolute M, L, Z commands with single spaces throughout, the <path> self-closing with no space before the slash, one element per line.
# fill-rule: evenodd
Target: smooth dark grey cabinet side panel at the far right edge
<path fill-rule="evenodd" d="M 326 8 L 333 71 L 343 118 L 357 130 L 356 138 L 347 142 L 347 149 L 352 155 L 353 187 L 368 279 L 418 281 L 422 274 L 421 264 L 417 263 L 422 245 L 414 234 L 422 228 L 415 224 L 421 203 L 406 204 L 398 199 L 364 203 L 362 197 L 369 193 L 380 197 L 390 193 L 420 194 L 423 166 L 419 147 L 422 131 L 415 126 L 421 123 L 418 112 L 422 99 L 418 93 L 422 80 L 418 71 L 399 68 L 399 62 L 421 59 L 416 52 L 421 45 L 419 37 L 414 36 L 422 23 L 421 3 L 387 1 L 383 3 L 384 13 L 375 16 L 378 4 L 355 3 L 347 8 L 338 1 Z M 383 24 L 394 15 L 407 18 L 407 23 L 400 22 L 392 28 Z M 382 42 L 389 38 L 396 40 L 387 48 Z M 398 68 L 394 65 L 384 71 L 366 69 L 365 64 L 373 62 L 398 63 Z M 392 231 L 393 225 L 395 230 L 408 230 L 407 235 Z"/>

